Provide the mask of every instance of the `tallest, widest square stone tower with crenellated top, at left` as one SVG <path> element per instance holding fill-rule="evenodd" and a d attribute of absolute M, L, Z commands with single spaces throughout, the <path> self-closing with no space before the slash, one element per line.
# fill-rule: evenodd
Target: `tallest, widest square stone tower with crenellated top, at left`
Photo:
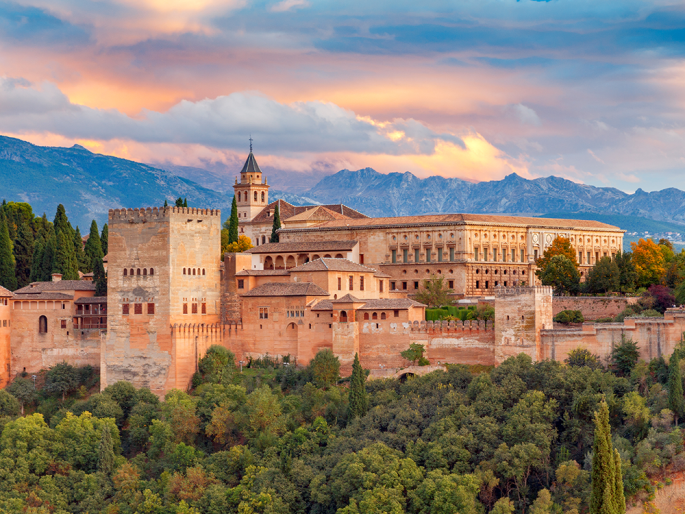
<path fill-rule="evenodd" d="M 101 387 L 185 390 L 220 314 L 221 215 L 167 207 L 109 211 Z"/>

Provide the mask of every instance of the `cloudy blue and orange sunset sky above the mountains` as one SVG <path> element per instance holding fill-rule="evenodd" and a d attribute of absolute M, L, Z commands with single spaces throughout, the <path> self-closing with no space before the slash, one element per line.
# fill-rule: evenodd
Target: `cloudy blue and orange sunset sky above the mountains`
<path fill-rule="evenodd" d="M 0 0 L 1 134 L 229 174 L 685 189 L 684 85 L 682 1 Z"/>

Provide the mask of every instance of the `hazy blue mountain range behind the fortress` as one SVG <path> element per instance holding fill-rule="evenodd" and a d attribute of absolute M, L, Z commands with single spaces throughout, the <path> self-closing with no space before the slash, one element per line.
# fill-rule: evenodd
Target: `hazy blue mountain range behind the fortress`
<path fill-rule="evenodd" d="M 63 203 L 70 219 L 82 228 L 91 219 L 106 222 L 111 208 L 162 205 L 179 196 L 191 206 L 222 209 L 225 218 L 237 173 L 237 169 L 229 173 L 143 164 L 95 154 L 79 145 L 43 147 L 0 136 L 0 199 L 29 202 L 37 214 L 46 212 L 49 217 Z M 270 170 L 265 176 L 270 184 L 283 184 L 292 183 L 292 173 Z M 613 215 L 626 230 L 638 220 L 658 220 L 661 223 L 654 226 L 659 230 L 685 233 L 685 192 L 675 188 L 628 194 L 554 176 L 528 180 L 511 174 L 503 180 L 472 183 L 438 176 L 420 179 L 409 172 L 383 174 L 371 168 L 342 170 L 318 181 L 314 175 L 311 178 L 312 187 L 272 189 L 269 196 L 296 205 L 344 203 L 369 216 L 566 213 L 593 219 Z"/>

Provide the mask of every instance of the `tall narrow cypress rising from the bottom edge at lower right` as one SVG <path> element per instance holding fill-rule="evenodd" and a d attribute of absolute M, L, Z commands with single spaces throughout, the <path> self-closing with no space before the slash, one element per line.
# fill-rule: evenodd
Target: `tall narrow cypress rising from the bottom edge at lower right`
<path fill-rule="evenodd" d="M 623 514 L 625 511 L 621 458 L 611 443 L 609 407 L 602 400 L 595 413 L 590 513 Z"/>

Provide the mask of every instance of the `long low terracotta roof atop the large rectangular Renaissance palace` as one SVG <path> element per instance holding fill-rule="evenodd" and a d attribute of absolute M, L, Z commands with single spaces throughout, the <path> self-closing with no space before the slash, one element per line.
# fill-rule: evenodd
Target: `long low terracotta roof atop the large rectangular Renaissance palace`
<path fill-rule="evenodd" d="M 285 231 L 302 231 L 302 230 L 335 230 L 339 228 L 377 228 L 389 226 L 422 226 L 422 225 L 467 225 L 467 224 L 500 224 L 500 225 L 516 225 L 529 227 L 544 227 L 544 228 L 564 228 L 572 229 L 598 229 L 598 230 L 615 230 L 619 231 L 618 227 L 600 223 L 592 220 L 564 220 L 552 218 L 528 218 L 523 216 L 497 216 L 490 214 L 430 214 L 425 216 L 399 216 L 395 218 L 364 218 L 364 219 L 350 219 L 350 220 L 335 220 L 327 221 L 321 225 L 311 228 L 292 228 L 281 229 Z M 621 231 L 624 232 L 624 231 Z"/>

